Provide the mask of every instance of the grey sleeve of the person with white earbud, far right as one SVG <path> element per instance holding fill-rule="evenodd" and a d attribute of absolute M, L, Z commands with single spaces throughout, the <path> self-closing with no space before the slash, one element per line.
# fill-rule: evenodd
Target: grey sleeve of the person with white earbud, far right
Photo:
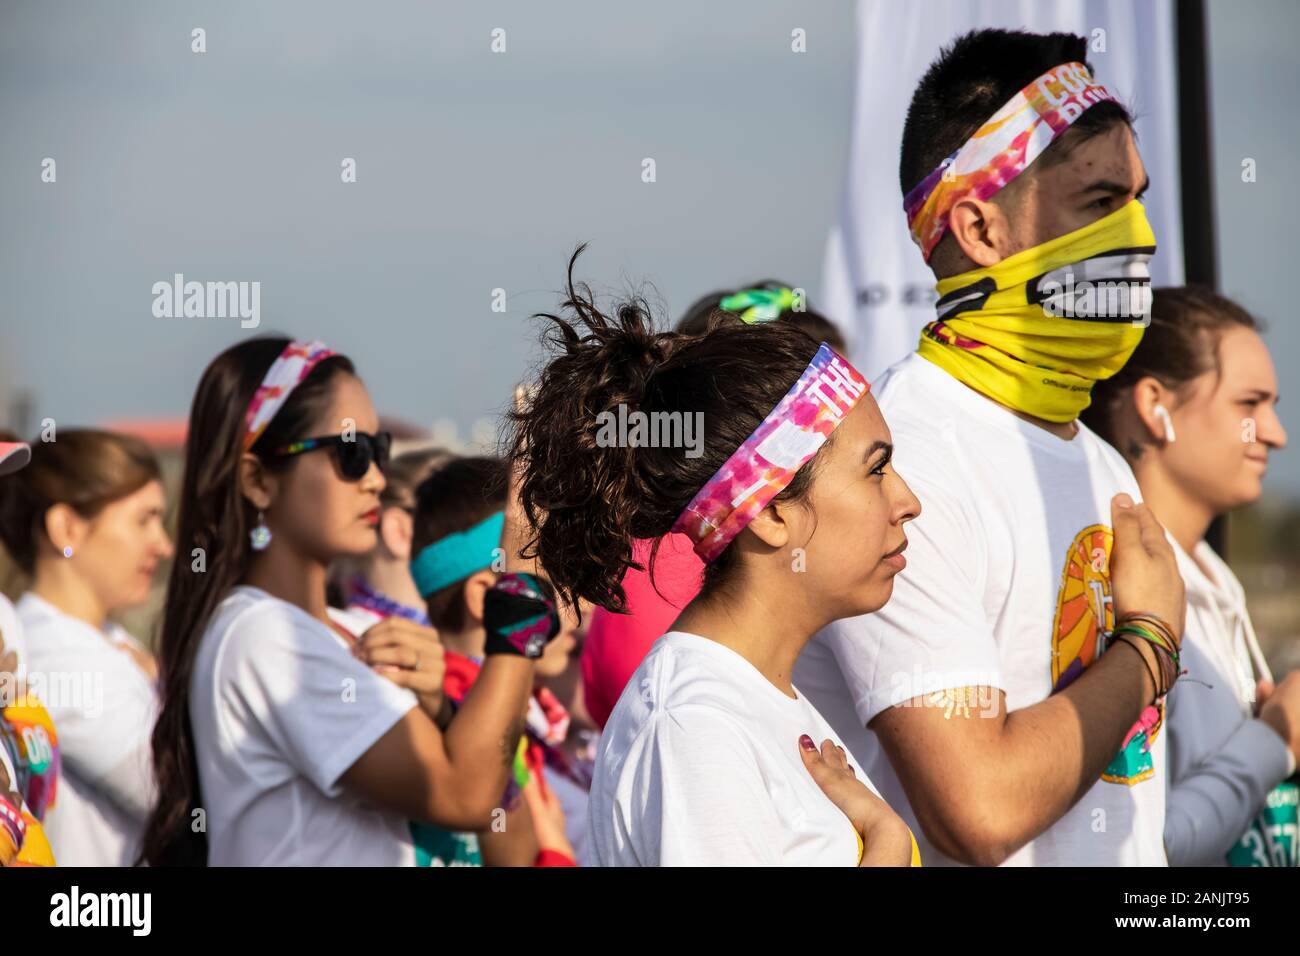
<path fill-rule="evenodd" d="M 1222 864 L 1269 791 L 1286 779 L 1290 753 L 1271 727 L 1243 721 L 1218 750 L 1170 786 L 1165 799 L 1169 865 Z"/>

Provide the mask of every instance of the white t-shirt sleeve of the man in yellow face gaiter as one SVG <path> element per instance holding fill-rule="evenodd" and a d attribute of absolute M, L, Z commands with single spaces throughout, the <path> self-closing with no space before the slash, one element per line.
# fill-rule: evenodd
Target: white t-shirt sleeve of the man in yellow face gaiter
<path fill-rule="evenodd" d="M 992 624 L 984 613 L 988 549 L 978 518 L 948 490 L 959 488 L 913 462 L 904 477 L 920 499 L 907 524 L 907 567 L 874 614 L 837 620 L 822 633 L 835 653 L 863 724 L 887 708 L 953 687 L 1002 687 Z"/>

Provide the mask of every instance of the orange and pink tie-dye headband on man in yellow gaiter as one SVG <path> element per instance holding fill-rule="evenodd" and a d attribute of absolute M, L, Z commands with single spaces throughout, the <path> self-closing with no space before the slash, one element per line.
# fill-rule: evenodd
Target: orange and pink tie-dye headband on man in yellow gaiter
<path fill-rule="evenodd" d="M 967 196 L 989 199 L 1023 173 L 1084 111 L 1115 100 L 1082 62 L 1053 66 L 975 130 L 902 200 L 913 241 L 930 254 L 948 232 L 948 216 Z"/>

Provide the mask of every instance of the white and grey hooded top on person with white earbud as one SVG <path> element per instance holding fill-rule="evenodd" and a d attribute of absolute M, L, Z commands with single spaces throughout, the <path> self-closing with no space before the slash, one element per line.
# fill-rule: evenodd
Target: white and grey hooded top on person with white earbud
<path fill-rule="evenodd" d="M 1195 559 L 1174 548 L 1187 585 L 1187 675 L 1169 692 L 1165 849 L 1173 866 L 1222 866 L 1295 757 L 1253 719 L 1256 682 L 1273 675 L 1240 581 L 1204 541 Z"/>

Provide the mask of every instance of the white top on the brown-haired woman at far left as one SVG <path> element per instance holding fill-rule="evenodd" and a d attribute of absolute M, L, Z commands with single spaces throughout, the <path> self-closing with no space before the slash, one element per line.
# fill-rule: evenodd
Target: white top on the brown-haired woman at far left
<path fill-rule="evenodd" d="M 126 648 L 143 650 L 118 624 L 104 630 L 27 592 L 27 687 L 58 734 L 60 774 L 46 835 L 61 866 L 131 866 L 153 806 L 157 689 Z"/>

